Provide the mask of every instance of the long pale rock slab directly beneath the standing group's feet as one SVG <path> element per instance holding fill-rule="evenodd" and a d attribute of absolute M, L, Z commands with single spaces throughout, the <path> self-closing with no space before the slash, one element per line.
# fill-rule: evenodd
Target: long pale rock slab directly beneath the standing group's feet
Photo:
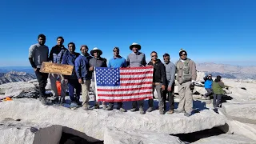
<path fill-rule="evenodd" d="M 164 114 L 154 110 L 151 113 L 122 113 L 119 110 L 70 110 L 62 106 L 42 106 L 35 99 L 21 98 L 1 102 L 1 118 L 24 119 L 29 122 L 48 122 L 62 125 L 85 133 L 90 142 L 103 140 L 106 126 L 115 126 L 118 130 L 143 130 L 162 134 L 186 134 L 211 129 L 225 124 L 225 117 L 213 110 L 202 110 L 190 117 L 183 114 Z"/>

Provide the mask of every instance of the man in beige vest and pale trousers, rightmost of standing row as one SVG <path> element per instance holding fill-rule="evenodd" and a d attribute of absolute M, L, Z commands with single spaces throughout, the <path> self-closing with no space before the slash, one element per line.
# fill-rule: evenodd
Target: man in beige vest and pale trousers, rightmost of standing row
<path fill-rule="evenodd" d="M 197 78 L 197 70 L 194 61 L 187 57 L 186 50 L 179 51 L 180 59 L 176 62 L 176 78 L 178 81 L 179 103 L 176 113 L 185 110 L 185 116 L 190 116 L 193 110 L 192 90 L 194 90 L 194 82 Z"/>

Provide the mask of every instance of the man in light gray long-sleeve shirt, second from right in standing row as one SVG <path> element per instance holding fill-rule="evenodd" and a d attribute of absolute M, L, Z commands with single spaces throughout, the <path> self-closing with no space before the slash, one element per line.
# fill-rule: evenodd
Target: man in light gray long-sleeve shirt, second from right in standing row
<path fill-rule="evenodd" d="M 163 91 L 164 95 L 164 108 L 166 110 L 166 99 L 168 99 L 170 103 L 170 109 L 167 111 L 167 114 L 173 114 L 174 113 L 174 78 L 175 78 L 175 72 L 176 72 L 176 66 L 173 62 L 170 62 L 170 55 L 169 54 L 163 54 L 163 61 L 164 65 L 166 66 L 166 79 L 167 79 L 167 85 L 166 90 Z"/>

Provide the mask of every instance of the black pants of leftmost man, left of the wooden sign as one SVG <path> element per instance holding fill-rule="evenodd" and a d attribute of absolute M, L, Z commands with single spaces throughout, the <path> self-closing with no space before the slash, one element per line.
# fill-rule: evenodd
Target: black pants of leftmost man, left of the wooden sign
<path fill-rule="evenodd" d="M 36 70 L 35 75 L 37 76 L 39 82 L 39 94 L 41 97 L 46 98 L 46 84 L 47 84 L 47 73 L 41 73 L 39 70 Z"/>

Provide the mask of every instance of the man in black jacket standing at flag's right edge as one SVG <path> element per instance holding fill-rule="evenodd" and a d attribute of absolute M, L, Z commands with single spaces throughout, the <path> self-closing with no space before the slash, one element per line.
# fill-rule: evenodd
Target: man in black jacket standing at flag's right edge
<path fill-rule="evenodd" d="M 158 92 L 158 106 L 159 106 L 159 114 L 164 114 L 164 98 L 162 91 L 166 89 L 166 69 L 160 59 L 158 59 L 158 53 L 155 51 L 151 52 L 151 61 L 149 62 L 150 66 L 154 66 L 153 73 L 153 94 L 154 89 Z M 149 100 L 149 109 L 147 112 L 151 112 L 153 110 L 153 102 L 154 99 Z"/>

